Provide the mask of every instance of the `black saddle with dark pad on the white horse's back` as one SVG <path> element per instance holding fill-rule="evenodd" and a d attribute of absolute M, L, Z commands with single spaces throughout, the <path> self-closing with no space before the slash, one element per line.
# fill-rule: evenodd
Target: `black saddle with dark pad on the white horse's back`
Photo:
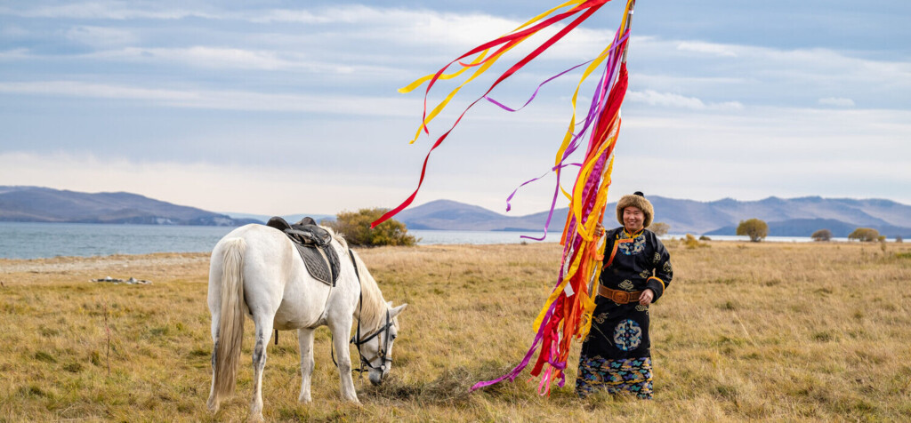
<path fill-rule="evenodd" d="M 297 252 L 301 254 L 307 272 L 320 282 L 335 286 L 339 278 L 339 257 L 330 243 L 333 236 L 329 231 L 316 224 L 312 217 L 304 217 L 294 225 L 281 217 L 272 217 L 266 222 L 267 227 L 280 230 L 291 239 Z"/>

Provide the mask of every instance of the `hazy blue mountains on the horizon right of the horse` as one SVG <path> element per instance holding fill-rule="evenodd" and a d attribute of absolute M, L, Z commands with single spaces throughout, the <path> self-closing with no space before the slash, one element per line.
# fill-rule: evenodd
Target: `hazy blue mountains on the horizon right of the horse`
<path fill-rule="evenodd" d="M 873 227 L 887 237 L 911 237 L 911 206 L 890 200 L 820 196 L 711 202 L 663 196 L 649 199 L 655 206 L 654 220 L 667 223 L 670 232 L 676 234 L 734 235 L 741 220 L 755 217 L 768 223 L 769 235 L 777 237 L 809 237 L 818 229 L 829 229 L 834 237 L 847 237 L 857 227 Z M 608 205 L 607 227 L 619 225 L 613 213 L 616 206 Z M 568 208 L 554 210 L 550 229 L 562 228 L 567 213 Z M 541 212 L 509 217 L 480 206 L 437 200 L 406 209 L 395 218 L 412 229 L 541 231 L 547 216 Z"/>

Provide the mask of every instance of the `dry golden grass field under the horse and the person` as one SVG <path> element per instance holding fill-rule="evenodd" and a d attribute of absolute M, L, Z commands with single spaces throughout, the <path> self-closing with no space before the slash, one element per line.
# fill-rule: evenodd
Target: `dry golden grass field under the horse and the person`
<path fill-rule="evenodd" d="M 408 302 L 394 368 L 339 398 L 317 334 L 313 402 L 297 403 L 293 332 L 268 349 L 270 421 L 896 421 L 911 419 L 911 245 L 667 243 L 675 277 L 651 308 L 655 399 L 538 397 L 516 365 L 558 269 L 554 244 L 362 250 L 387 299 Z M 0 421 L 242 421 L 238 393 L 206 407 L 206 254 L 0 260 Z M 91 283 L 137 277 L 152 285 Z M 578 358 L 578 347 L 576 348 Z M 571 358 L 571 360 L 576 360 Z"/>

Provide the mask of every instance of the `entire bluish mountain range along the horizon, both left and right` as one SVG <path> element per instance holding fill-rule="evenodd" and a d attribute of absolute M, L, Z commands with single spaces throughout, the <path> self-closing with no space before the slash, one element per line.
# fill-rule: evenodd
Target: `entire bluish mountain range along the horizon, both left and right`
<path fill-rule="evenodd" d="M 769 225 L 769 235 L 809 237 L 818 229 L 829 229 L 834 237 L 846 237 L 857 227 L 872 227 L 886 237 L 911 238 L 911 206 L 884 199 L 855 200 L 805 196 L 758 201 L 724 198 L 701 202 L 649 196 L 655 206 L 656 222 L 670 225 L 672 234 L 734 235 L 741 220 L 756 217 Z M 608 205 L 606 227 L 619 225 Z M 566 222 L 568 208 L 554 210 L 550 230 Z M 80 193 L 38 186 L 0 186 L 0 221 L 134 223 L 148 225 L 239 226 L 262 223 L 260 215 L 213 213 L 189 206 L 177 206 L 146 196 L 118 193 Z M 296 222 L 302 215 L 285 217 Z M 312 215 L 321 220 L 325 215 Z M 450 200 L 437 200 L 404 210 L 395 218 L 410 229 L 521 230 L 541 232 L 548 212 L 527 216 L 506 216 Z M 331 217 L 329 217 L 331 218 Z"/>

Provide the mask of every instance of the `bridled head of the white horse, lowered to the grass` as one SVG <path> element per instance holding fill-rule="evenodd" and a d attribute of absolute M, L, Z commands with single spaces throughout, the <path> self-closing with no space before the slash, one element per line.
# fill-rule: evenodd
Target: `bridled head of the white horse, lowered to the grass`
<path fill-rule="evenodd" d="M 380 385 L 393 367 L 393 344 L 398 337 L 398 317 L 407 304 L 392 307 L 392 302 L 386 306 L 383 325 L 369 334 L 355 335 L 352 343 L 357 346 L 361 354 L 361 365 L 369 368 L 368 378 L 370 383 Z"/>

